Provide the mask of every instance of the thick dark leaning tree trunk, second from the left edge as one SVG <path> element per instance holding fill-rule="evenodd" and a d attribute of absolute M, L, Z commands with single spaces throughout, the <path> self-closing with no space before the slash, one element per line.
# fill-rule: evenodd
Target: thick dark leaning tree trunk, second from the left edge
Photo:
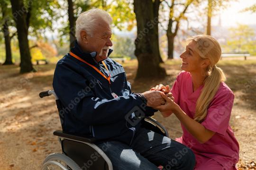
<path fill-rule="evenodd" d="M 31 2 L 31 1 L 29 1 Z M 32 67 L 31 56 L 28 45 L 28 21 L 26 11 L 24 10 L 23 0 L 11 0 L 11 8 L 18 33 L 18 46 L 20 52 L 20 73 L 34 71 Z"/>

